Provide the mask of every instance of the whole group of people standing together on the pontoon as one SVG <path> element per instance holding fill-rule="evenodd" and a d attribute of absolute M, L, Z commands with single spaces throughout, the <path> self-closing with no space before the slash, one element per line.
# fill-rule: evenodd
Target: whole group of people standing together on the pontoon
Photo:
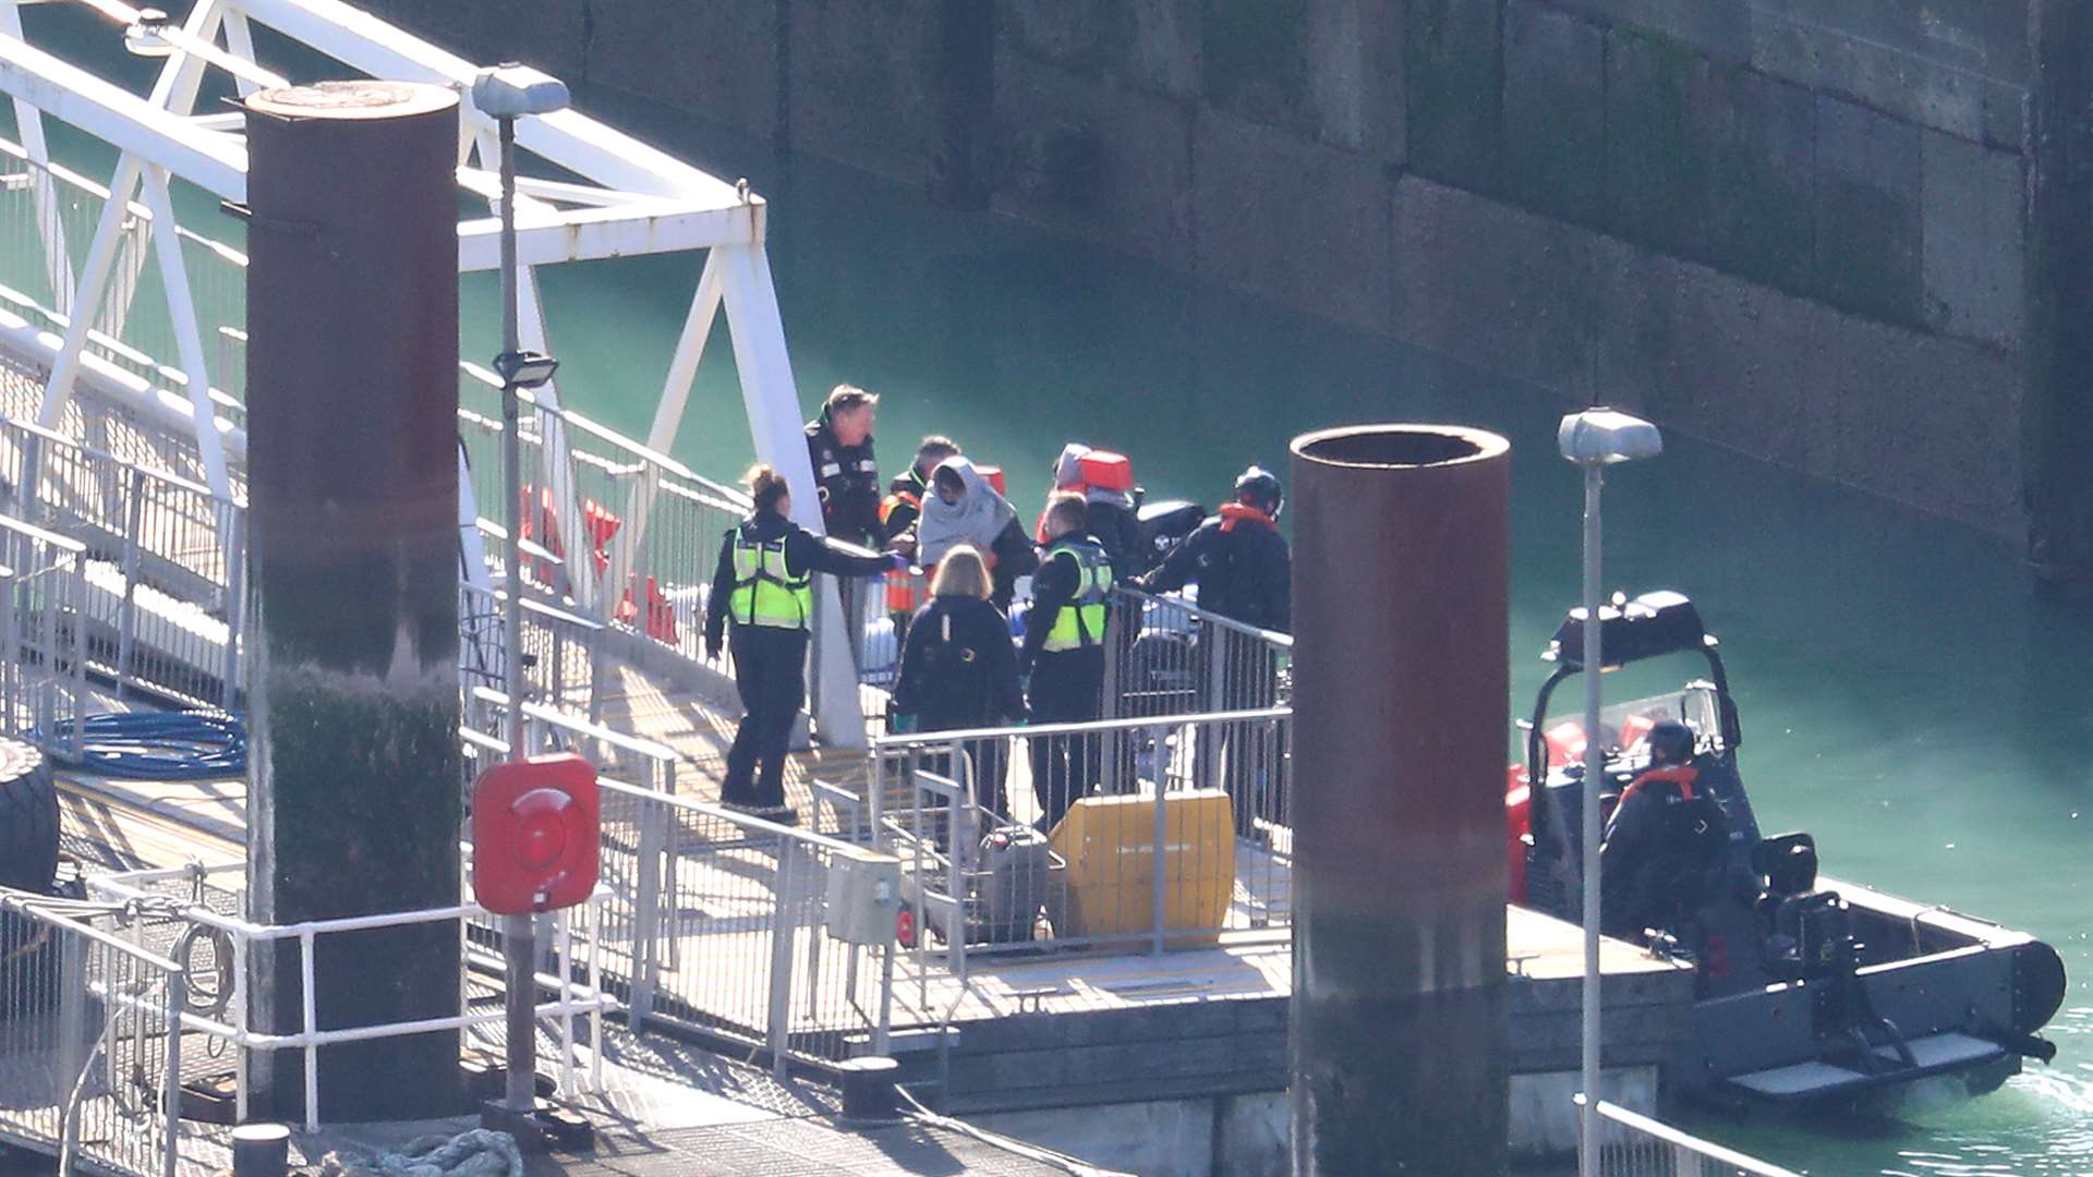
<path fill-rule="evenodd" d="M 864 616 L 858 595 L 873 588 L 862 578 L 929 572 L 929 599 L 919 607 L 900 601 L 908 607 L 894 618 L 902 653 L 892 716 L 915 731 L 1099 718 L 1107 649 L 1132 639 L 1111 632 L 1122 628 L 1109 607 L 1113 584 L 1168 593 L 1197 582 L 1203 607 L 1260 628 L 1289 628 L 1289 555 L 1277 530 L 1281 486 L 1270 473 L 1245 471 L 1235 498 L 1153 563 L 1130 482 L 1086 480 L 1093 450 L 1080 444 L 1057 459 L 1055 490 L 1032 534 L 992 473 L 944 436 L 923 438 L 881 496 L 877 404 L 875 394 L 837 385 L 806 425 L 827 538 L 787 519 L 783 475 L 758 465 L 749 471 L 756 509 L 720 545 L 705 647 L 716 656 L 730 630 L 747 708 L 726 760 L 724 804 L 795 821 L 783 771 L 806 693 L 814 572 L 839 578 L 846 618 Z M 1032 603 L 1015 643 L 1009 609 L 1023 576 L 1032 578 Z M 1009 819 L 1003 743 L 969 741 L 967 752 L 975 800 Z M 1040 827 L 1051 829 L 1099 781 L 1101 748 L 1095 735 L 1032 739 L 1030 754 Z"/>

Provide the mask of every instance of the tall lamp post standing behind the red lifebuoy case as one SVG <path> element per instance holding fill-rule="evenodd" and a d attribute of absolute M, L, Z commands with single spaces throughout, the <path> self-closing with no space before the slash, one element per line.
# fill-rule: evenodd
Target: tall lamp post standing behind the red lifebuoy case
<path fill-rule="evenodd" d="M 502 140 L 502 354 L 494 371 L 502 377 L 502 492 L 515 511 L 504 538 L 509 597 L 502 607 L 502 687 L 509 693 L 509 758 L 523 758 L 523 475 L 517 425 L 521 406 L 517 392 L 540 387 L 559 369 L 559 360 L 525 352 L 517 339 L 517 119 L 567 109 L 567 86 L 527 65 L 498 65 L 473 80 L 473 107 L 494 115 Z M 530 915 L 502 917 L 502 974 L 509 1001 L 509 1068 L 504 1110 L 519 1139 L 530 1135 L 527 1116 L 536 1110 L 538 1091 L 538 945 Z"/>

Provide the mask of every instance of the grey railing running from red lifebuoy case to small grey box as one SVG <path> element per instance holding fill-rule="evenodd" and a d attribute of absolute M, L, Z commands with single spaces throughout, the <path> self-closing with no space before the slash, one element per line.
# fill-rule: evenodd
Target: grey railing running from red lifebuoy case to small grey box
<path fill-rule="evenodd" d="M 507 754 L 507 699 L 473 691 L 467 771 Z M 676 752 L 538 704 L 532 752 L 576 750 L 599 777 L 603 942 L 634 1024 L 670 1022 L 749 1047 L 783 1074 L 883 1049 L 892 1016 L 892 854 L 678 798 Z M 883 894 L 881 894 L 883 888 Z"/>

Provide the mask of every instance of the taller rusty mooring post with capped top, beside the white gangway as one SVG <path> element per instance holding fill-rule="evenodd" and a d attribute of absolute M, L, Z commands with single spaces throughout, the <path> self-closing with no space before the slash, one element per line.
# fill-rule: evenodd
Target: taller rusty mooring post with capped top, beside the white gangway
<path fill-rule="evenodd" d="M 264 924 L 458 903 L 458 96 L 322 82 L 247 98 L 255 626 L 249 907 Z M 299 942 L 253 1024 L 306 1028 Z M 458 1014 L 452 921 L 318 936 L 320 1028 Z M 303 1053 L 257 1056 L 278 1116 Z M 327 1120 L 463 1110 L 458 1035 L 318 1056 Z"/>

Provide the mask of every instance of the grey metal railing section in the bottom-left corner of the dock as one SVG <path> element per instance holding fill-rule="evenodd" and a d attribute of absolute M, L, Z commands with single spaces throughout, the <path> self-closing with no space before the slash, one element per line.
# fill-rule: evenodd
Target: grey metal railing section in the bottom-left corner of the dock
<path fill-rule="evenodd" d="M 59 1173 L 174 1177 L 186 1005 L 184 970 L 130 915 L 0 896 L 0 1137 Z"/>

